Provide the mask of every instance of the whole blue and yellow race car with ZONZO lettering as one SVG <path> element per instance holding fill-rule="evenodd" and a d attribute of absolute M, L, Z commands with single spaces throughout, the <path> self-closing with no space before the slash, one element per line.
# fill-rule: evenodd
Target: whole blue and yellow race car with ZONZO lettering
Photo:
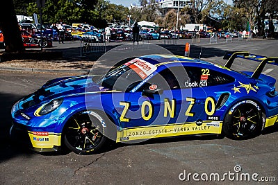
<path fill-rule="evenodd" d="M 277 123 L 276 80 L 261 74 L 278 58 L 227 53 L 224 67 L 174 55 L 125 60 L 105 76 L 50 80 L 12 109 L 12 137 L 33 150 L 67 146 L 92 154 L 106 141 L 134 142 L 190 134 L 249 139 Z M 235 58 L 261 61 L 231 70 Z M 98 79 L 97 79 L 98 78 Z"/>

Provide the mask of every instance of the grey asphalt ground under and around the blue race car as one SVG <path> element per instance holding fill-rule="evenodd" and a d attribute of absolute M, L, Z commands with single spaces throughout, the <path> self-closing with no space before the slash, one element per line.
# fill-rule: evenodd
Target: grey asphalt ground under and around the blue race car
<path fill-rule="evenodd" d="M 162 41 L 151 43 L 160 42 Z M 174 54 L 183 55 L 185 42 L 186 40 L 180 39 L 177 45 L 166 46 L 162 43 L 161 46 L 165 46 Z M 70 50 L 69 46 L 78 48 L 77 42 L 68 44 L 57 49 Z M 203 60 L 224 64 L 222 56 L 226 51 L 250 51 L 277 57 L 277 46 L 276 40 L 192 44 L 190 56 L 198 58 L 202 49 Z M 147 47 L 149 49 L 146 49 Z M 153 48 L 153 45 L 147 44 L 140 45 L 138 49 L 131 49 L 131 45 L 120 46 L 109 51 L 111 55 L 104 55 L 99 67 L 106 69 L 111 65 L 108 62 L 111 58 L 117 60 L 120 56 L 164 52 L 160 46 Z M 252 70 L 258 64 L 237 60 L 233 68 L 240 71 Z M 278 79 L 277 69 L 277 66 L 267 65 L 264 72 Z M 97 72 L 96 69 L 95 71 Z M 225 179 L 224 182 L 209 181 L 209 184 L 277 184 L 277 127 L 245 141 L 233 141 L 216 136 L 153 139 L 134 145 L 115 144 L 106 152 L 90 156 L 76 155 L 73 152 L 40 155 L 11 145 L 8 139 L 10 108 L 19 98 L 58 76 L 65 74 L 0 71 L 0 184 L 186 184 L 188 179 L 190 184 L 202 184 L 202 181 L 196 182 L 193 175 L 185 178 L 185 173 L 186 177 L 189 173 L 197 173 L 197 179 L 205 178 L 206 175 L 209 179 L 211 174 L 218 173 L 220 179 Z M 258 180 L 261 177 L 275 177 L 276 182 L 240 181 L 240 175 L 247 173 L 250 178 L 255 174 L 254 177 Z M 185 181 L 181 181 L 179 177 Z M 229 180 L 229 177 L 234 177 L 234 180 Z"/>

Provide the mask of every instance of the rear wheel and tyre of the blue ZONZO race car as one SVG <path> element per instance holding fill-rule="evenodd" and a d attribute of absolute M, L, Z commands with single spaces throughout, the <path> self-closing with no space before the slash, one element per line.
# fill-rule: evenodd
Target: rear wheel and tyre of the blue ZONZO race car
<path fill-rule="evenodd" d="M 265 114 L 252 100 L 236 103 L 224 118 L 223 132 L 230 139 L 250 139 L 261 134 L 265 125 Z"/>

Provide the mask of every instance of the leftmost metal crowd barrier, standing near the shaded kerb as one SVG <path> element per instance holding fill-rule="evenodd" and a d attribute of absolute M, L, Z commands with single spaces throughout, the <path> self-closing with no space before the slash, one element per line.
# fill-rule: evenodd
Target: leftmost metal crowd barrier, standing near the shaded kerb
<path fill-rule="evenodd" d="M 80 40 L 80 55 L 85 53 L 106 53 L 105 40 L 95 39 L 95 37 L 82 37 Z"/>

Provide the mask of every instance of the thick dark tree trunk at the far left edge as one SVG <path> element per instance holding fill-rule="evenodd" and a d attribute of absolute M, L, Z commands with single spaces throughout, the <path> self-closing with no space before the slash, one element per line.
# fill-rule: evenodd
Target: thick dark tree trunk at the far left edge
<path fill-rule="evenodd" d="M 24 47 L 19 26 L 17 24 L 17 17 L 15 16 L 13 0 L 2 1 L 1 6 L 6 9 L 5 11 L 0 11 L 0 28 L 6 44 L 5 51 L 22 52 L 24 51 Z"/>

